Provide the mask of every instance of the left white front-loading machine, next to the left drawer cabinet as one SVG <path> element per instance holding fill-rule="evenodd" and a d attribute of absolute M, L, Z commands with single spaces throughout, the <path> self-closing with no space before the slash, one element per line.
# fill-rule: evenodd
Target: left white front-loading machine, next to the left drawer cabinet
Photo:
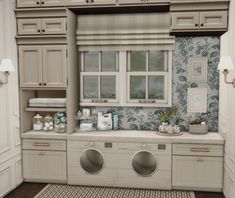
<path fill-rule="evenodd" d="M 117 144 L 68 141 L 68 184 L 114 186 Z"/>

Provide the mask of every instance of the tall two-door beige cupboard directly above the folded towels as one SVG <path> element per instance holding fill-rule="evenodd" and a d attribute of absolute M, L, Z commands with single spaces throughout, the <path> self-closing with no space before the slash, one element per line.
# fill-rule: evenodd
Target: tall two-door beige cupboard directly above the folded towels
<path fill-rule="evenodd" d="M 66 65 L 65 45 L 19 46 L 21 87 L 66 87 Z"/>

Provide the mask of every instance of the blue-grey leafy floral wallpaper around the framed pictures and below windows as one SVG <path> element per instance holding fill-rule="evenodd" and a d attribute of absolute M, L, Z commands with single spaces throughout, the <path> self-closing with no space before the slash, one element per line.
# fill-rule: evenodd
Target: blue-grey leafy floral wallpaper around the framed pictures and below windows
<path fill-rule="evenodd" d="M 188 131 L 190 121 L 203 118 L 209 131 L 218 130 L 219 73 L 217 66 L 220 56 L 219 37 L 176 37 L 173 56 L 172 104 L 178 107 L 173 124 L 178 123 L 181 131 Z M 187 80 L 189 57 L 207 57 L 207 83 L 194 83 Z M 206 113 L 187 113 L 187 89 L 189 87 L 207 87 L 208 101 Z M 160 121 L 156 112 L 165 108 L 142 107 L 96 107 L 92 111 L 116 112 L 119 114 L 120 129 L 156 130 Z"/>

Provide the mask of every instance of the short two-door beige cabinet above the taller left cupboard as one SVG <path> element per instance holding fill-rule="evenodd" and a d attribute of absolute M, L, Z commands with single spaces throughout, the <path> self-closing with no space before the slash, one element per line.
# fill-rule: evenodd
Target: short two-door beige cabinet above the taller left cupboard
<path fill-rule="evenodd" d="M 19 35 L 66 34 L 65 18 L 18 19 Z"/>

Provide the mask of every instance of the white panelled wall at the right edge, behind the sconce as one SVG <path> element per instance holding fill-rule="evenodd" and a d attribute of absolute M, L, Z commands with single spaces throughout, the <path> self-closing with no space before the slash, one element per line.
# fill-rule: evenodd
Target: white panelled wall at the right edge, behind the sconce
<path fill-rule="evenodd" d="M 229 31 L 221 38 L 221 56 L 229 55 L 235 64 L 235 0 L 230 0 Z M 235 71 L 229 71 L 229 81 L 235 78 Z M 224 83 L 220 74 L 219 132 L 225 137 L 225 179 L 226 198 L 235 195 L 235 88 Z"/>

